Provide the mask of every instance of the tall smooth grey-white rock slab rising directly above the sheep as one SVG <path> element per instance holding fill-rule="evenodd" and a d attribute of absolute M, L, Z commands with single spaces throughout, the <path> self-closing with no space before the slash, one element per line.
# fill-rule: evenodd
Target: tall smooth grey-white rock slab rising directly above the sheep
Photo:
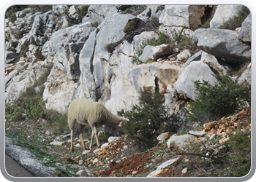
<path fill-rule="evenodd" d="M 114 54 L 110 54 L 105 47 L 110 43 L 124 39 L 124 26 L 129 19 L 134 18 L 133 15 L 122 15 L 116 12 L 117 9 L 111 9 L 111 11 L 97 30 L 90 34 L 79 58 L 81 84 L 77 96 L 92 98 L 93 100 L 100 99 L 103 103 L 110 99 L 110 84 L 106 81 L 112 78 L 111 67 L 117 64 L 115 62 L 120 62 L 120 60 L 114 60 L 114 63 L 110 63 L 111 56 Z M 118 26 L 116 26 L 117 24 Z M 132 58 L 129 58 L 129 61 L 132 62 Z"/>

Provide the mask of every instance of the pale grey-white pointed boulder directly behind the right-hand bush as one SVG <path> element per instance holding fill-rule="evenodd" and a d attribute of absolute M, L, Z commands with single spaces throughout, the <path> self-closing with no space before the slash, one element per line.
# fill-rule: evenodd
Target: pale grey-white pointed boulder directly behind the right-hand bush
<path fill-rule="evenodd" d="M 217 81 L 213 76 L 214 72 L 203 61 L 193 61 L 187 66 L 182 74 L 178 77 L 177 81 L 173 84 L 179 95 L 185 95 L 187 98 L 195 100 L 195 86 L 192 81 L 203 80 L 208 81 L 214 85 Z"/>

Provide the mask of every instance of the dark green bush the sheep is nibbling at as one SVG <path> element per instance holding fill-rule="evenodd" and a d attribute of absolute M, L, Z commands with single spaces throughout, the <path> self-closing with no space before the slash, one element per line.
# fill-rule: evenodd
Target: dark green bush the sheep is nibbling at
<path fill-rule="evenodd" d="M 142 92 L 139 103 L 130 111 L 118 111 L 119 116 L 128 119 L 123 126 L 129 141 L 139 151 L 145 151 L 157 144 L 157 136 L 163 131 L 163 124 L 170 122 L 165 107 L 162 106 L 164 96 L 159 92 L 151 94 Z"/>

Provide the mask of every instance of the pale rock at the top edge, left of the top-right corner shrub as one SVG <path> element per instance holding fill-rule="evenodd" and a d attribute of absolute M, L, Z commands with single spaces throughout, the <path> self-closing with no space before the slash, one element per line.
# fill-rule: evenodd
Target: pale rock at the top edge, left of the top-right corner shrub
<path fill-rule="evenodd" d="M 210 22 L 211 28 L 219 28 L 220 25 L 230 20 L 230 18 L 238 15 L 242 5 L 218 5 L 214 17 Z"/>

